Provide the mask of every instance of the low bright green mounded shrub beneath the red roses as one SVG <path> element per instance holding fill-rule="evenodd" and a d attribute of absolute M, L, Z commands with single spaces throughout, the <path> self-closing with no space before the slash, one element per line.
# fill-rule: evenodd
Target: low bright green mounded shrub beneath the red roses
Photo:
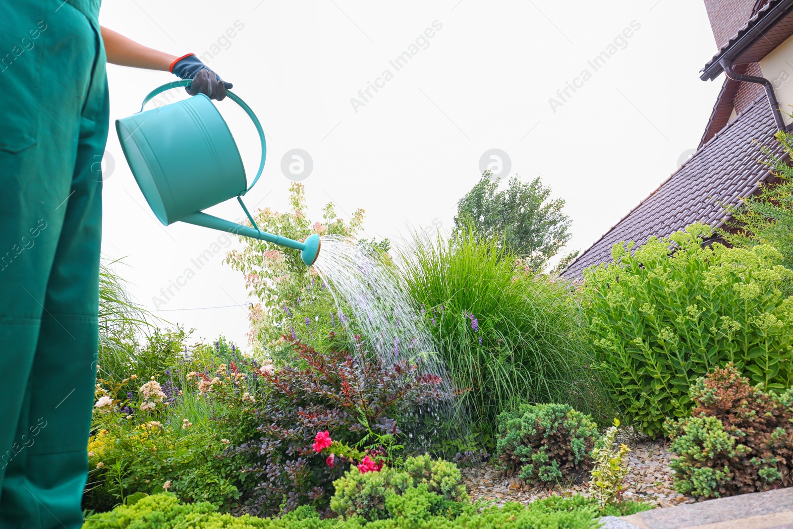
<path fill-rule="evenodd" d="M 468 500 L 457 466 L 426 454 L 408 458 L 398 470 L 385 466 L 379 472 L 360 472 L 353 467 L 333 486 L 332 511 L 369 521 L 408 513 L 412 519 L 458 514 L 461 502 Z"/>

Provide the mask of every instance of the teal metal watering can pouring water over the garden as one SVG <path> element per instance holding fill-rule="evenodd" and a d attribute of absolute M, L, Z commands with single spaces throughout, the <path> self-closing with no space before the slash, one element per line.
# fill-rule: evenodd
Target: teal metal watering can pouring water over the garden
<path fill-rule="evenodd" d="M 262 161 L 250 186 L 232 132 L 204 94 L 144 112 L 155 95 L 190 82 L 169 82 L 151 90 L 139 113 L 116 121 L 121 148 L 151 210 L 166 226 L 181 220 L 300 250 L 303 263 L 311 266 L 320 253 L 320 236 L 308 236 L 301 243 L 262 232 L 243 204 L 243 195 L 262 176 L 266 144 L 262 125 L 242 99 L 226 91 L 251 117 L 262 142 Z M 202 211 L 232 197 L 237 198 L 253 228 Z"/>

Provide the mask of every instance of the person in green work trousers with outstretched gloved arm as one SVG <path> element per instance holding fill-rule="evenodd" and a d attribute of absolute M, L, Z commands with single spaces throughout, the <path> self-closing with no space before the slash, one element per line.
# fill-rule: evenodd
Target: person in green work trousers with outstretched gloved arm
<path fill-rule="evenodd" d="M 105 62 L 231 84 L 98 23 L 100 0 L 6 2 L 0 15 L 0 527 L 82 526 L 94 405 L 109 125 Z"/>

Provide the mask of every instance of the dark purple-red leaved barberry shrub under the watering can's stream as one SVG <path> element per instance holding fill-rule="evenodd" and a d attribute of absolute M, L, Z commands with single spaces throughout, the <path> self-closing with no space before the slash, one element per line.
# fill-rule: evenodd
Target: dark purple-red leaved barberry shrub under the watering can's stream
<path fill-rule="evenodd" d="M 295 366 L 262 374 L 261 435 L 235 448 L 251 459 L 243 472 L 258 483 L 247 493 L 247 507 L 262 516 L 302 504 L 327 511 L 332 482 L 351 462 L 335 454 L 330 466 L 328 454 L 312 447 L 317 432 L 374 454 L 382 435 L 404 439 L 406 424 L 454 397 L 441 378 L 407 360 L 383 365 L 362 360 L 365 351 L 316 351 L 300 340 L 293 347 Z"/>

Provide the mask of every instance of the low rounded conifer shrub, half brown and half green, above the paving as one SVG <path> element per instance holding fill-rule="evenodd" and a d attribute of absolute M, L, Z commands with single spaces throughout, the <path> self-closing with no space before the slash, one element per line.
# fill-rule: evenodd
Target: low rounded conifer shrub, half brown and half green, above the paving
<path fill-rule="evenodd" d="M 733 364 L 691 386 L 692 416 L 666 424 L 675 489 L 704 497 L 793 485 L 793 391 L 764 391 Z"/>

